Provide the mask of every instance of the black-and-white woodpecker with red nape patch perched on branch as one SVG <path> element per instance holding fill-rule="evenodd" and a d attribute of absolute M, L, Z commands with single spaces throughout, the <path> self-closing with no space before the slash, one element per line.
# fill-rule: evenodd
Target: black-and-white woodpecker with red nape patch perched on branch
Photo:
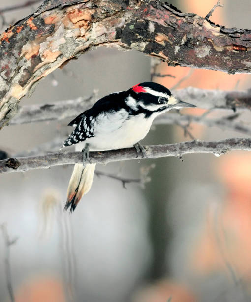
<path fill-rule="evenodd" d="M 195 107 L 174 97 L 166 87 L 144 82 L 127 91 L 115 92 L 98 100 L 78 115 L 69 126 L 76 127 L 63 147 L 76 145 L 76 151 L 104 151 L 135 146 L 148 133 L 153 120 L 171 109 Z M 86 148 L 85 148 L 86 147 Z M 88 147 L 88 148 L 87 148 Z M 74 211 L 92 185 L 95 164 L 75 164 L 67 191 L 65 209 Z"/>

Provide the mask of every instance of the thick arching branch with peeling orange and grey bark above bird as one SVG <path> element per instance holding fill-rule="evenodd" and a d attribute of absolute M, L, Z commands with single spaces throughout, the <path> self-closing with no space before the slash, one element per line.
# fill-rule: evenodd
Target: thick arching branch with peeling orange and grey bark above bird
<path fill-rule="evenodd" d="M 251 72 L 251 31 L 226 29 L 159 0 L 50 0 L 0 36 L 0 127 L 34 84 L 98 46 L 170 65 Z"/>

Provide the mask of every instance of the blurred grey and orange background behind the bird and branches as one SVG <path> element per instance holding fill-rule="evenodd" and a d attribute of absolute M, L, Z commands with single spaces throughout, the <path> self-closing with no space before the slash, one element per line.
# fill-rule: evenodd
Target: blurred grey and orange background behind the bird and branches
<path fill-rule="evenodd" d="M 183 12 L 205 16 L 216 0 L 171 1 Z M 221 0 L 211 20 L 250 28 L 249 0 Z M 1 0 L 0 9 L 20 4 Z M 22 19 L 39 5 L 5 13 Z M 21 104 L 98 97 L 150 80 L 149 57 L 135 51 L 99 48 L 72 60 L 39 82 Z M 88 77 L 85 70 L 88 70 Z M 251 76 L 168 67 L 154 77 L 168 88 L 244 90 Z M 84 76 L 85 75 L 85 76 Z M 186 100 L 185 100 L 186 101 Z M 204 110 L 186 110 L 202 115 Z M 229 113 L 229 112 L 228 112 Z M 211 113 L 210 113 L 211 114 Z M 222 112 L 214 112 L 219 117 Z M 250 113 L 246 113 L 246 123 Z M 5 126 L 0 149 L 8 154 L 66 138 L 69 120 Z M 243 134 L 191 124 L 158 125 L 143 144 L 219 140 Z M 0 302 L 8 302 L 8 272 L 16 302 L 248 302 L 251 301 L 251 154 L 220 158 L 193 154 L 98 166 L 99 171 L 148 182 L 126 184 L 94 176 L 77 210 L 63 212 L 72 166 L 10 173 L 0 180 Z M 149 182 L 149 178 L 151 181 Z M 11 245 L 6 243 L 14 240 Z M 10 242 L 9 242 L 10 243 Z M 10 252 L 9 256 L 8 253 Z"/>

